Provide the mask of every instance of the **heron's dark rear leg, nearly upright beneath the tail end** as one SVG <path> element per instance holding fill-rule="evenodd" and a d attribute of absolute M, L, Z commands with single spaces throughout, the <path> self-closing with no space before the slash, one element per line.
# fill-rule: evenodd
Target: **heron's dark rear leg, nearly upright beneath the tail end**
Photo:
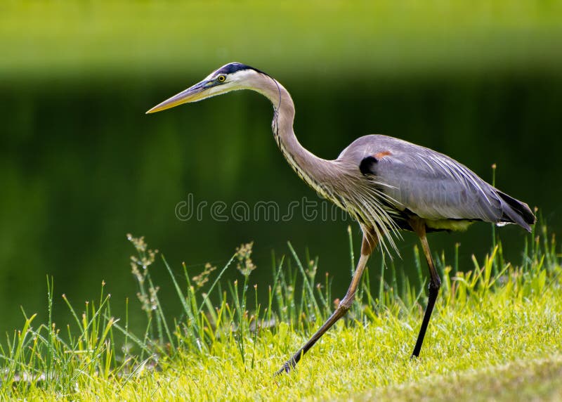
<path fill-rule="evenodd" d="M 426 312 L 424 313 L 424 320 L 421 321 L 421 327 L 419 328 L 419 335 L 417 336 L 416 346 L 414 346 L 414 351 L 412 352 L 412 358 L 414 358 L 419 356 L 419 351 L 421 351 L 421 344 L 424 343 L 427 325 L 429 324 L 431 312 L 433 311 L 433 306 L 435 306 L 435 301 L 437 299 L 437 295 L 439 294 L 439 288 L 441 287 L 441 280 L 435 266 L 433 265 L 433 258 L 431 257 L 431 251 L 429 250 L 429 244 L 427 242 L 426 226 L 424 221 L 411 221 L 410 225 L 419 236 L 419 241 L 421 242 L 421 248 L 424 249 L 424 254 L 426 256 L 430 275 Z"/>

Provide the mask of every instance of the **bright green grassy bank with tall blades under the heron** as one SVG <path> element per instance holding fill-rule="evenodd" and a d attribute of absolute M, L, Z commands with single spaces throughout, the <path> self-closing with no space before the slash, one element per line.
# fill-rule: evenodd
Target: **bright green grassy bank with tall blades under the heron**
<path fill-rule="evenodd" d="M 272 283 L 249 287 L 256 268 L 251 244 L 221 269 L 171 274 L 183 316 L 164 315 L 150 271 L 157 251 L 143 238 L 129 240 L 147 327 L 112 317 L 110 297 L 72 311 L 74 323 L 58 328 L 25 325 L 0 349 L 0 397 L 47 400 L 505 400 L 562 397 L 561 254 L 542 228 L 525 243 L 514 266 L 502 243 L 459 272 L 443 257 L 443 288 L 421 357 L 410 360 L 421 322 L 424 292 L 391 265 L 371 267 L 347 320 L 341 320 L 290 375 L 273 377 L 334 308 L 331 278 L 316 278 L 317 262 L 273 259 Z M 351 240 L 350 240 L 351 242 Z M 351 245 L 353 249 L 353 245 Z M 457 247 L 458 249 L 458 247 Z M 353 263 L 353 253 L 350 256 Z M 419 277 L 425 266 L 414 249 Z M 455 259 L 456 261 L 456 259 Z M 221 280 L 229 267 L 240 280 Z M 381 268 L 381 267 L 379 267 Z M 384 274 L 381 285 L 375 276 Z M 343 280 L 341 274 L 338 280 Z M 370 283 L 373 283 L 371 286 Z M 53 283 L 49 282 L 49 311 Z M 266 304 L 259 304 L 266 294 Z M 211 302 L 212 300 L 212 302 Z M 51 317 L 51 314 L 49 314 Z"/>

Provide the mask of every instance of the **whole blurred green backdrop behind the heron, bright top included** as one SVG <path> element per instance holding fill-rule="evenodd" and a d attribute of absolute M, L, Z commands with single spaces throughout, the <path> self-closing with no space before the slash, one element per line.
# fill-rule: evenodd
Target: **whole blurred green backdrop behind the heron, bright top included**
<path fill-rule="evenodd" d="M 377 133 L 447 153 L 488 181 L 497 163 L 497 186 L 561 227 L 560 1 L 4 0 L 0 46 L 0 333 L 20 325 L 19 306 L 46 319 L 46 275 L 63 323 L 60 294 L 81 304 L 105 280 L 115 315 L 129 297 L 140 325 L 129 232 L 180 276 L 182 261 L 195 275 L 254 240 L 251 283 L 263 291 L 271 251 L 286 254 L 291 240 L 335 275 L 334 296 L 345 291 L 349 221 L 176 219 L 188 193 L 282 210 L 316 199 L 277 150 L 272 108 L 256 93 L 144 114 L 230 61 L 287 87 L 313 153 L 334 158 Z M 520 261 L 524 231 L 499 233 Z M 398 266 L 412 266 L 415 242 L 405 235 Z M 456 242 L 470 269 L 490 226 L 430 239 L 447 255 Z M 162 264 L 153 269 L 164 306 L 179 311 Z"/>

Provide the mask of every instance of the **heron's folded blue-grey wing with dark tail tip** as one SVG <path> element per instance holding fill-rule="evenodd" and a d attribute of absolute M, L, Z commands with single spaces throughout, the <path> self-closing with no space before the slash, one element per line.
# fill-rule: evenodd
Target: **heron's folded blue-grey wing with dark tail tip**
<path fill-rule="evenodd" d="M 387 136 L 365 136 L 340 157 L 358 162 L 393 201 L 393 207 L 429 220 L 514 222 L 530 230 L 527 205 L 499 192 L 473 171 L 429 148 Z"/>

